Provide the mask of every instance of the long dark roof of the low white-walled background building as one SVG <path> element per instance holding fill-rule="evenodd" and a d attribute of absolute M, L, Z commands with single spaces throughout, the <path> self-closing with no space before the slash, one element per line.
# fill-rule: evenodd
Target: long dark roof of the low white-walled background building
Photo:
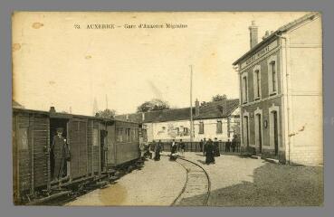
<path fill-rule="evenodd" d="M 207 119 L 207 118 L 226 118 L 231 115 L 232 112 L 239 106 L 239 99 L 226 99 L 215 102 L 207 102 L 205 105 L 199 107 L 199 115 L 195 116 L 196 108 L 193 108 L 194 119 Z M 142 113 L 134 113 L 129 115 L 119 115 L 116 119 L 126 120 L 127 116 L 131 121 L 137 122 L 165 122 L 165 121 L 177 121 L 186 120 L 190 118 L 190 107 L 182 109 L 165 109 L 145 112 L 145 119 L 142 120 Z"/>

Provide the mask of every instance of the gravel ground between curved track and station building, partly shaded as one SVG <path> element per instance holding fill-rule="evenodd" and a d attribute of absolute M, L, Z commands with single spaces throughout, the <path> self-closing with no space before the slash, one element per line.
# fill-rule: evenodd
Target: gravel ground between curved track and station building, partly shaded
<path fill-rule="evenodd" d="M 210 206 L 322 206 L 323 167 L 268 163 L 219 156 L 205 165 L 199 153 L 186 158 L 202 165 L 211 179 Z"/>

